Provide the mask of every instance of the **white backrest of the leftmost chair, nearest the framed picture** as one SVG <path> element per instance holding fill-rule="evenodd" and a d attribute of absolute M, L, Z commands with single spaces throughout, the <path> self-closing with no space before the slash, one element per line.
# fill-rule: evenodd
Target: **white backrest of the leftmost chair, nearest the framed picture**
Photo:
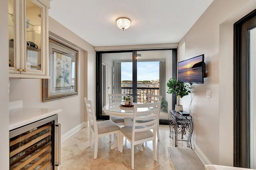
<path fill-rule="evenodd" d="M 84 102 L 85 102 L 85 105 L 86 105 L 89 127 L 94 131 L 94 133 L 98 134 L 96 115 L 95 115 L 95 112 L 92 108 L 92 101 L 87 100 L 86 97 L 84 97 Z"/>

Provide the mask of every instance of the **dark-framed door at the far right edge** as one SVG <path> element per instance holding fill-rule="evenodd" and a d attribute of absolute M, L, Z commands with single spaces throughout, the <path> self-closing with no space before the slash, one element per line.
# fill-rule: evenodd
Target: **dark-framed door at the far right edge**
<path fill-rule="evenodd" d="M 234 24 L 234 166 L 256 168 L 256 10 Z"/>

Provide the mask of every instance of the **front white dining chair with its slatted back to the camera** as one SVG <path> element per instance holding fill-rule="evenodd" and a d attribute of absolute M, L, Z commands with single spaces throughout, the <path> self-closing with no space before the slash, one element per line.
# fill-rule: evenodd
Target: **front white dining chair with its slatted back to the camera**
<path fill-rule="evenodd" d="M 132 169 L 134 169 L 134 145 L 136 144 L 141 144 L 152 140 L 154 160 L 156 160 L 156 127 L 160 106 L 160 101 L 156 103 L 134 104 L 134 117 L 132 125 L 120 128 L 120 139 L 118 143 L 119 149 L 120 152 L 123 151 L 123 141 L 124 137 L 126 137 L 126 139 L 131 142 Z M 148 111 L 148 108 L 151 107 L 152 109 Z M 151 121 L 144 123 L 138 122 L 148 119 Z"/>

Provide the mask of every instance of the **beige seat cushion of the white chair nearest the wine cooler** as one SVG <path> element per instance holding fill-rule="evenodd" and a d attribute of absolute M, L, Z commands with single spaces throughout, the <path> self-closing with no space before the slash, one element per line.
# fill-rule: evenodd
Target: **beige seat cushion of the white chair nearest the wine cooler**
<path fill-rule="evenodd" d="M 120 129 L 120 127 L 116 125 L 116 123 L 110 120 L 97 122 L 97 127 L 98 127 L 98 134 L 113 132 Z M 93 126 L 92 126 L 92 130 L 94 130 Z"/>

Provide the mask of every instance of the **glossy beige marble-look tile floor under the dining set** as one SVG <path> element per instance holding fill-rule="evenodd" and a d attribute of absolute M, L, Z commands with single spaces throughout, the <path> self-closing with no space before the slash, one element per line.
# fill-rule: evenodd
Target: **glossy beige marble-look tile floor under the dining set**
<path fill-rule="evenodd" d="M 169 137 L 169 126 L 160 125 L 160 140 L 157 142 L 157 161 L 153 159 L 152 141 L 147 142 L 143 152 L 134 150 L 135 170 L 174 170 L 168 146 L 175 146 L 174 138 Z M 130 142 L 124 139 L 123 152 L 110 150 L 113 144 L 109 136 L 99 138 L 98 158 L 93 159 L 94 141 L 89 146 L 89 128 L 84 127 L 61 143 L 60 170 L 130 170 Z M 179 141 L 178 147 L 187 148 L 186 142 Z"/>

